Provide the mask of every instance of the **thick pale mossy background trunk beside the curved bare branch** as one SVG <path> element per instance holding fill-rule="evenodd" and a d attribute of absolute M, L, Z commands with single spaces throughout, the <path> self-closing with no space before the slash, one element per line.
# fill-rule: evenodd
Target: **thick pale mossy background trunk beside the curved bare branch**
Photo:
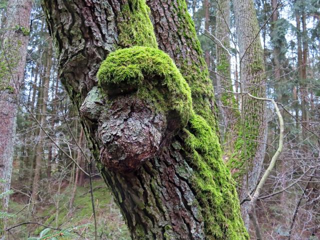
<path fill-rule="evenodd" d="M 234 0 L 234 16 L 238 34 L 239 57 L 242 90 L 254 96 L 265 97 L 265 74 L 263 50 L 258 34 L 259 25 L 255 14 L 253 0 Z M 240 184 L 240 200 L 247 197 L 247 192 L 254 189 L 261 171 L 265 154 L 266 142 L 266 115 L 265 101 L 259 101 L 243 96 L 241 109 L 243 122 L 238 126 L 238 137 L 235 143 L 233 157 L 229 166 L 233 176 Z M 243 124 L 243 126 L 241 126 Z M 244 132 L 243 132 L 244 128 Z M 246 153 L 248 165 L 248 182 L 246 183 L 246 164 L 244 156 L 244 140 L 246 140 Z M 246 189 L 246 184 L 249 189 Z M 241 206 L 242 216 L 248 226 L 248 202 Z"/>

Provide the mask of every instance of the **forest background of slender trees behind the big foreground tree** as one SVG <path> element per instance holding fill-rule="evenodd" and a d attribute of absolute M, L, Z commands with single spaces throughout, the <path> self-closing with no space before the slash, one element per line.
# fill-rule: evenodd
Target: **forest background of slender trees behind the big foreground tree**
<path fill-rule="evenodd" d="M 225 2 L 230 5 L 226 11 L 221 9 Z M 227 152 L 228 141 L 241 138 L 237 133 L 228 135 L 234 132 L 235 123 L 225 118 L 228 108 L 239 109 L 243 101 L 237 7 L 220 0 L 189 0 L 187 7 L 214 85 L 220 141 Z M 257 220 L 265 239 L 320 238 L 319 7 L 317 0 L 254 0 L 259 27 L 255 37 L 263 49 L 265 97 L 278 103 L 284 120 L 282 152 L 256 202 Z M 1 0 L 1 38 L 6 32 L 6 9 L 7 1 Z M 218 27 L 221 19 L 228 17 L 229 36 L 222 34 L 221 38 Z M 72 229 L 79 239 L 93 239 L 95 231 L 100 239 L 130 239 L 120 210 L 104 187 L 87 148 L 76 109 L 60 83 L 55 48 L 38 0 L 32 1 L 29 22 L 5 235 L 8 239 L 25 239 Z M 228 54 L 228 67 L 219 48 Z M 7 69 L 14 62 L 8 62 L 3 52 L 2 45 L 0 67 Z M 223 79 L 225 68 L 229 71 L 228 81 Z M 233 99 L 235 105 L 230 105 L 228 99 Z M 257 179 L 278 147 L 280 123 L 273 107 L 267 101 L 266 110 L 260 115 L 261 122 L 267 125 L 267 138 Z M 224 155 L 231 172 L 232 162 L 228 158 L 232 157 Z M 80 168 L 88 169 L 90 175 Z M 237 172 L 232 173 L 236 179 Z M 256 185 L 257 182 L 250 186 L 252 191 Z M 240 198 L 240 204 L 246 201 L 245 197 Z M 248 231 L 251 239 L 255 239 L 251 223 Z"/>

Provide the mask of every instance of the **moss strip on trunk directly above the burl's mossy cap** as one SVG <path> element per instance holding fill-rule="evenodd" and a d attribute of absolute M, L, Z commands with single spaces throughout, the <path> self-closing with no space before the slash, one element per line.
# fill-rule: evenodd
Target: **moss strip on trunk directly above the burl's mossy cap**
<path fill-rule="evenodd" d="M 149 11 L 144 0 L 128 0 L 128 3 L 121 7 L 122 19 L 118 23 L 119 45 L 157 47 Z"/>

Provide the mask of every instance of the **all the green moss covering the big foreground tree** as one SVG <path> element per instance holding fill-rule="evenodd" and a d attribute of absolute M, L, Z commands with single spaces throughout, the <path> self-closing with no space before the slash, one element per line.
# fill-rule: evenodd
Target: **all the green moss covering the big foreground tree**
<path fill-rule="evenodd" d="M 141 14 L 138 9 L 142 9 Z M 186 44 L 197 54 L 194 59 L 185 59 L 179 64 L 183 76 L 171 58 L 156 49 L 144 1 L 131 0 L 122 8 L 122 16 L 129 22 L 119 28 L 120 45 L 130 47 L 107 56 L 97 74 L 98 84 L 106 95 L 120 89 L 157 102 L 163 110 L 169 108 L 179 113 L 185 125 L 181 135 L 181 144 L 184 144 L 172 144 L 184 151 L 188 166 L 193 169 L 190 175 L 182 168 L 178 171 L 190 180 L 195 192 L 197 202 L 194 204 L 199 205 L 202 213 L 206 239 L 248 239 L 234 181 L 222 161 L 213 86 L 194 23 L 184 0 L 177 0 L 172 10 L 180 18 L 177 30 L 183 32 L 188 39 Z M 170 226 L 166 226 L 165 238 L 170 239 L 170 235 Z"/>

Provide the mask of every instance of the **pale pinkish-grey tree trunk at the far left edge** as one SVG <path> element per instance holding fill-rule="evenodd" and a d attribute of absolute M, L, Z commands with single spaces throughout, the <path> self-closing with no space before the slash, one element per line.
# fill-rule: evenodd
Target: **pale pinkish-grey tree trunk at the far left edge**
<path fill-rule="evenodd" d="M 0 75 L 0 192 L 10 188 L 13 146 L 17 115 L 17 93 L 24 78 L 26 46 L 29 35 L 31 0 L 9 0 L 3 35 Z M 6 211 L 9 196 L 1 199 Z M 0 219 L 0 239 L 4 238 L 4 219 Z"/>

